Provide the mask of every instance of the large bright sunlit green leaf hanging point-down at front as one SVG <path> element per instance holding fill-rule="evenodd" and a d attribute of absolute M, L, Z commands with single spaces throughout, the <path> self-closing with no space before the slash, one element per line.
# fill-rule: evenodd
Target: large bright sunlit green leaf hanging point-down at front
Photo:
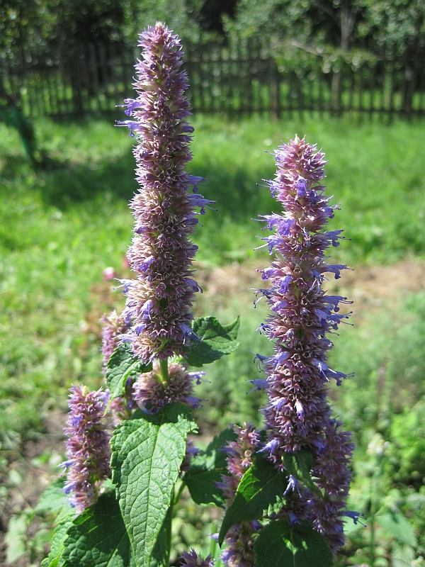
<path fill-rule="evenodd" d="M 137 567 L 149 566 L 186 453 L 186 436 L 194 430 L 196 423 L 181 403 L 115 428 L 112 480 Z"/>

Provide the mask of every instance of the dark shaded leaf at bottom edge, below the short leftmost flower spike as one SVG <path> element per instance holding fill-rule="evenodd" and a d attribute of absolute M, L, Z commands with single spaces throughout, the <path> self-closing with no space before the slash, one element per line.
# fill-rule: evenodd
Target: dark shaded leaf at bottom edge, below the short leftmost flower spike
<path fill-rule="evenodd" d="M 63 567 L 132 566 L 130 540 L 114 493 L 102 494 L 73 520 L 62 560 Z"/>

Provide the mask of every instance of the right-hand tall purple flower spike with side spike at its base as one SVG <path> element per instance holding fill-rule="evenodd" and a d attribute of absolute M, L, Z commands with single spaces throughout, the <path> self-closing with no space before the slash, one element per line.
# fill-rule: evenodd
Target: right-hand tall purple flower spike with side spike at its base
<path fill-rule="evenodd" d="M 306 449 L 312 453 L 314 476 L 326 493 L 323 498 L 310 498 L 307 490 L 299 492 L 291 485 L 290 500 L 296 507 L 288 505 L 283 513 L 294 521 L 295 509 L 300 510 L 298 517 L 310 517 L 335 551 L 343 541 L 341 509 L 351 478 L 348 466 L 353 445 L 349 434 L 339 433 L 331 420 L 327 385 L 330 378 L 339 385 L 347 375 L 327 366 L 332 343 L 326 335 L 348 318 L 349 313 L 339 313 L 339 305 L 351 302 L 328 295 L 322 283 L 323 274 L 333 273 L 337 279 L 346 269 L 327 264 L 324 255 L 330 245 L 339 245 L 342 231 L 323 231 L 338 208 L 330 206 L 323 193 L 324 154 L 295 137 L 279 147 L 275 156 L 278 172 L 268 186 L 283 204 L 284 213 L 263 217 L 274 230 L 273 235 L 263 238 L 264 246 L 276 257 L 261 271 L 271 285 L 257 292 L 271 308 L 261 332 L 275 345 L 273 356 L 261 360 L 267 374 L 264 413 L 269 432 L 263 450 L 279 468 L 283 468 L 285 451 Z"/>

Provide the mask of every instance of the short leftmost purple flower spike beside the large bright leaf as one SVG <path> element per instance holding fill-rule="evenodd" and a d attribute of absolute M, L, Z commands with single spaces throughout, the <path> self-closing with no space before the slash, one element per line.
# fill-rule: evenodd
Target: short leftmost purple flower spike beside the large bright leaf
<path fill-rule="evenodd" d="M 108 394 L 89 392 L 86 386 L 72 386 L 70 392 L 64 428 L 68 459 L 61 466 L 68 469 L 64 491 L 69 502 L 82 512 L 96 502 L 102 481 L 110 476 L 109 436 L 102 423 Z"/>

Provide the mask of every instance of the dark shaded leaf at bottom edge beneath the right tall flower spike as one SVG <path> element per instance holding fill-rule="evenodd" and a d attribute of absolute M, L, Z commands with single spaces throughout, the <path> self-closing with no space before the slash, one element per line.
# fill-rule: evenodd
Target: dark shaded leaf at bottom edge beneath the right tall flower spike
<path fill-rule="evenodd" d="M 255 567 L 331 567 L 327 541 L 312 527 L 276 520 L 259 531 L 254 543 Z"/>

